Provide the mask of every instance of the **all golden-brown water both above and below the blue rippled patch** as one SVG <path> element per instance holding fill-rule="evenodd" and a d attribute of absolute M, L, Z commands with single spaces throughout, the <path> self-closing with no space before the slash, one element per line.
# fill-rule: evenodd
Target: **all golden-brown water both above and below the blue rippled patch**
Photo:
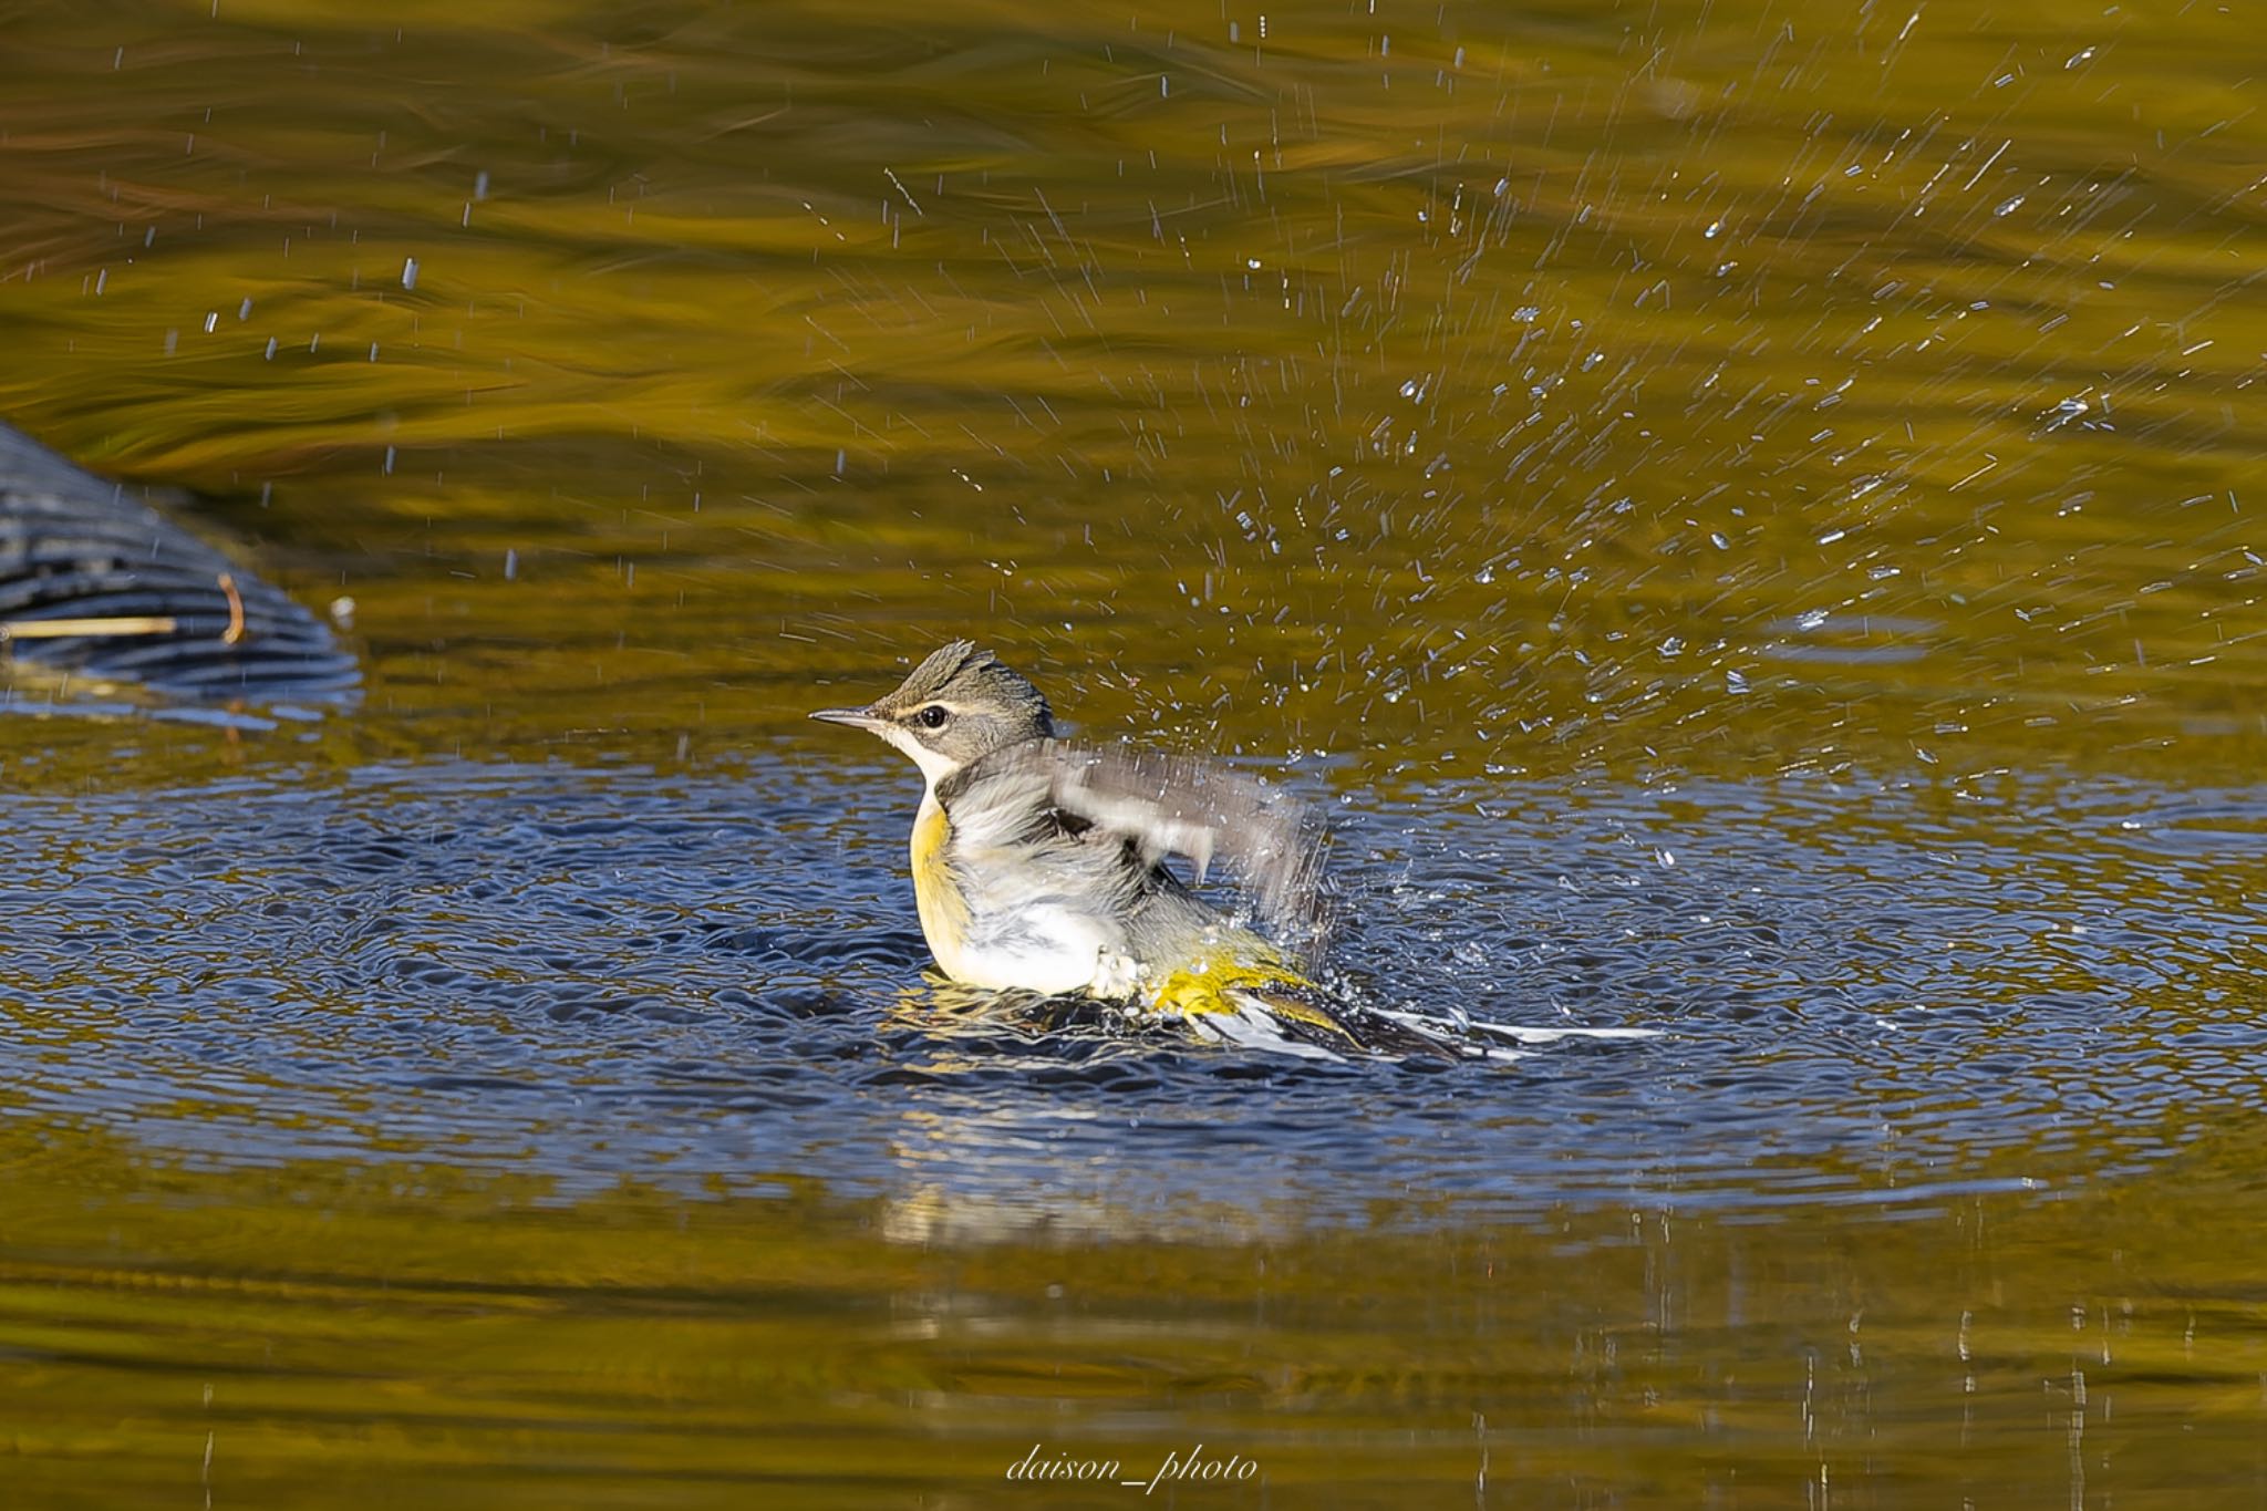
<path fill-rule="evenodd" d="M 803 711 L 959 632 L 1090 732 L 1487 822 L 1576 806 L 1489 813 L 1510 779 L 2258 782 L 2240 7 L 5 27 L 0 415 L 197 489 L 351 600 L 370 664 L 313 729 L 9 718 L 16 791 L 823 775 Z M 843 806 L 907 797 L 857 777 Z M 2102 1031 L 2240 1058 L 2258 820 L 2197 822 L 2224 888 L 2117 895 L 2192 908 L 2204 965 Z M 1902 838 L 1916 886 L 1961 863 Z M 2011 911 L 2124 863 L 2052 816 L 2011 843 Z M 1195 1226 L 993 1221 L 827 1169 L 562 1196 L 417 1139 L 245 1169 L 9 1092 L 0 1475 L 41 1506 L 1124 1504 L 1002 1470 L 1202 1441 L 1265 1477 L 1179 1504 L 2251 1504 L 2267 1167 L 2226 1085 L 2147 1176 L 1532 1223 L 1378 1189 L 1313 1230 L 1202 1189 Z M 2083 1092 L 2074 1146 L 2115 1144 Z"/>

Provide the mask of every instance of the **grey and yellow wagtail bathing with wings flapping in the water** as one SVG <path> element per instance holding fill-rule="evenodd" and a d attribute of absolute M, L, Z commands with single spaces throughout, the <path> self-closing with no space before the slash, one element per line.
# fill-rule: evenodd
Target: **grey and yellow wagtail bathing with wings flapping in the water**
<path fill-rule="evenodd" d="M 812 718 L 882 736 L 927 779 L 914 904 L 954 981 L 1084 992 L 1279 1049 L 1417 1047 L 1304 974 L 1324 931 L 1324 831 L 1285 793 L 1188 757 L 1068 745 L 1041 691 L 970 641 L 864 709 Z M 1197 883 L 1226 863 L 1279 942 L 1199 897 L 1174 854 Z"/>

